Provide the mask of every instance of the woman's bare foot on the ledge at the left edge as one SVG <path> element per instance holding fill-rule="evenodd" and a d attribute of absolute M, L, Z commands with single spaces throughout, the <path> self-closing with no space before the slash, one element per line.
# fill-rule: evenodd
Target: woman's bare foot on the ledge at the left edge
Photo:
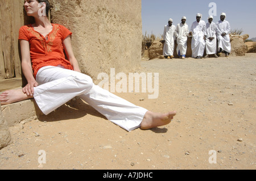
<path fill-rule="evenodd" d="M 7 90 L 0 95 L 1 105 L 11 104 L 26 99 L 31 99 L 33 96 L 27 96 L 22 89 Z"/>

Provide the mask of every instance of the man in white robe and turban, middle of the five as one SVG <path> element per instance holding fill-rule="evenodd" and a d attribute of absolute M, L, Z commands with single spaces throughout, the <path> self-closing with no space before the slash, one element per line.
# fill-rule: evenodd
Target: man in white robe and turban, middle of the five
<path fill-rule="evenodd" d="M 192 35 L 192 58 L 203 58 L 205 49 L 205 22 L 201 20 L 202 15 L 196 15 L 196 21 L 192 23 L 189 35 Z"/>

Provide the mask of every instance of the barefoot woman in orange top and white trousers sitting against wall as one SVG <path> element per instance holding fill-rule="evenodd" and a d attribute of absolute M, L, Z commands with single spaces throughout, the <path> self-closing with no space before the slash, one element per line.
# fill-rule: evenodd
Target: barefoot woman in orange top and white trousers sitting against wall
<path fill-rule="evenodd" d="M 155 113 L 135 106 L 94 85 L 92 78 L 82 74 L 71 46 L 72 33 L 60 24 L 51 24 L 47 16 L 38 13 L 44 10 L 48 14 L 47 0 L 25 0 L 24 8 L 27 15 L 35 19 L 34 24 L 19 30 L 22 71 L 28 83 L 23 89 L 3 92 L 1 105 L 34 98 L 40 110 L 48 115 L 79 96 L 127 131 L 139 127 L 151 129 L 171 122 L 175 111 Z"/>

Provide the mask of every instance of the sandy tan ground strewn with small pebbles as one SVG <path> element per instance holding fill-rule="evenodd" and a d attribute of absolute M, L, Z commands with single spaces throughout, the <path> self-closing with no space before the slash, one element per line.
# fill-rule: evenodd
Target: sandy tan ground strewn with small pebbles
<path fill-rule="evenodd" d="M 171 124 L 126 132 L 71 102 L 11 127 L 13 144 L 0 150 L 0 169 L 254 170 L 255 59 L 143 60 L 138 72 L 159 73 L 158 99 L 148 92 L 117 95 L 151 111 L 176 110 Z M 39 150 L 46 163 L 39 164 Z"/>

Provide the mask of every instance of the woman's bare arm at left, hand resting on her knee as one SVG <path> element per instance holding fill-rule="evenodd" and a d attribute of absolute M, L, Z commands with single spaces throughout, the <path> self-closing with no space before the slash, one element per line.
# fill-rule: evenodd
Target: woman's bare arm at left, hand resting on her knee
<path fill-rule="evenodd" d="M 20 40 L 20 52 L 22 55 L 22 72 L 24 76 L 27 79 L 27 85 L 23 87 L 24 94 L 27 94 L 28 96 L 32 96 L 34 94 L 34 87 L 38 86 L 38 83 L 36 82 L 31 60 L 30 60 L 30 44 L 27 40 Z"/>

